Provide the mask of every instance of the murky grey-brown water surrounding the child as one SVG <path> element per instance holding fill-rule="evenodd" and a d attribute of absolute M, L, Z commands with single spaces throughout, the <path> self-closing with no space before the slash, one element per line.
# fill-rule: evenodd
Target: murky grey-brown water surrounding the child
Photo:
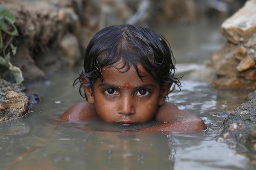
<path fill-rule="evenodd" d="M 184 75 L 182 91 L 171 94 L 169 101 L 201 117 L 209 127 L 207 131 L 182 135 L 128 133 L 120 131 L 150 124 L 128 127 L 90 121 L 56 126 L 54 119 L 83 100 L 78 87 L 71 87 L 80 70 L 74 68 L 29 87 L 30 93 L 41 96 L 42 102 L 33 109 L 40 112 L 0 124 L 0 169 L 253 170 L 246 154 L 216 141 L 216 131 L 228 110 L 245 102 L 251 92 L 209 85 L 212 74 L 204 63 L 224 41 L 219 26 L 202 22 L 155 29 L 172 46 L 177 75 Z M 87 126 L 101 131 L 88 130 Z"/>

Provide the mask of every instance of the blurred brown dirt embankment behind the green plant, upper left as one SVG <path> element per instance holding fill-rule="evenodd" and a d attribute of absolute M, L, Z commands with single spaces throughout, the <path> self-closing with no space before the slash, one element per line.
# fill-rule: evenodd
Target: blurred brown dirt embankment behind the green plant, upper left
<path fill-rule="evenodd" d="M 67 0 L 54 2 L 5 3 L 6 10 L 16 18 L 19 32 L 13 40 L 17 53 L 11 56 L 11 62 L 22 70 L 24 82 L 44 80 L 47 74 L 70 68 L 81 58 L 85 43 L 81 37 L 86 32 L 81 31 L 81 16 L 75 11 L 81 4 Z M 0 69 L 0 76 L 13 81 L 6 68 Z"/>

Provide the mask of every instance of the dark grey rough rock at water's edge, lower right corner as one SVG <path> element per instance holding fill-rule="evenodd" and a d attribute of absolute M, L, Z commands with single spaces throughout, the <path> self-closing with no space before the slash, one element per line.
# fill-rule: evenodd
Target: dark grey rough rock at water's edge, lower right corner
<path fill-rule="evenodd" d="M 256 98 L 232 110 L 218 131 L 218 138 L 245 151 L 256 151 Z M 221 140 L 218 140 L 221 141 Z"/>

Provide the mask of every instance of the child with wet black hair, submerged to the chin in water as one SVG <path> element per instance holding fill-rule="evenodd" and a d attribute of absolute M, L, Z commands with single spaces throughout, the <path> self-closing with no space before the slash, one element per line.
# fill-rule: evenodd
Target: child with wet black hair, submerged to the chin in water
<path fill-rule="evenodd" d="M 161 124 L 137 131 L 185 132 L 205 130 L 204 121 L 166 102 L 181 88 L 175 59 L 168 42 L 155 31 L 140 26 L 109 26 L 94 35 L 85 51 L 79 80 L 87 101 L 69 108 L 60 119 L 99 117 L 116 124 Z M 136 130 L 135 130 L 136 131 Z"/>

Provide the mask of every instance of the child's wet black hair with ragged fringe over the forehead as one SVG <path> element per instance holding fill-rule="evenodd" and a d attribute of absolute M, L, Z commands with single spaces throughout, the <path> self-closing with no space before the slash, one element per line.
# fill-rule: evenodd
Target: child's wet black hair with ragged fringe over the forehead
<path fill-rule="evenodd" d="M 80 85 L 80 95 L 87 99 L 81 88 L 91 86 L 93 93 L 94 82 L 98 78 L 104 82 L 101 68 L 120 60 L 124 64 L 122 66 L 125 68 L 124 72 L 134 66 L 138 76 L 142 78 L 137 65 L 139 63 L 159 83 L 160 88 L 171 83 L 172 88 L 169 93 L 174 89 L 177 91 L 181 89 L 180 77 L 174 77 L 175 58 L 167 40 L 148 28 L 117 25 L 100 30 L 90 40 L 85 50 L 83 69 L 74 81 L 74 85 L 81 82 L 81 79 L 86 79 L 88 82 Z"/>

